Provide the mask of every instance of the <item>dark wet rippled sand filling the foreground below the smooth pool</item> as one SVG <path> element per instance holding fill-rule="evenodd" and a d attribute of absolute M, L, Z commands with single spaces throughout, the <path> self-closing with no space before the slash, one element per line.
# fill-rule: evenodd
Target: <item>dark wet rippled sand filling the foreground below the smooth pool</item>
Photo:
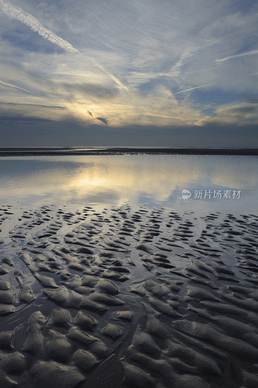
<path fill-rule="evenodd" d="M 258 387 L 254 214 L 3 205 L 0 229 L 0 387 Z"/>

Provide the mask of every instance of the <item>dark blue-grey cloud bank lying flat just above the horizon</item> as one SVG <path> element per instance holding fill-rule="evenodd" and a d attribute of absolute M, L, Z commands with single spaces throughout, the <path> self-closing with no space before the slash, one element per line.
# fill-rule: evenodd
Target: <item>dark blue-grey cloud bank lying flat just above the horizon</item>
<path fill-rule="evenodd" d="M 72 130 L 71 130 L 72 128 Z M 44 129 L 44 130 L 43 130 Z M 72 134 L 72 136 L 71 136 Z M 0 118 L 1 146 L 257 146 L 257 126 L 87 127 L 71 120 Z M 101 139 L 101 143 L 100 143 Z M 146 142 L 148 139 L 148 143 Z"/>

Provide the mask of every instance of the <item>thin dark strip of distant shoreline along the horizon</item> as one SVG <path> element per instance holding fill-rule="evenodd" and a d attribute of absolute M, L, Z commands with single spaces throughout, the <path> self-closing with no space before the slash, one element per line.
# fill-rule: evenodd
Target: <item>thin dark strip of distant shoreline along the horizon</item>
<path fill-rule="evenodd" d="M 86 147 L 85 147 L 86 148 Z M 181 154 L 181 155 L 258 155 L 258 148 L 132 148 L 132 147 L 1 147 L 0 156 L 42 155 L 123 155 L 123 154 Z"/>

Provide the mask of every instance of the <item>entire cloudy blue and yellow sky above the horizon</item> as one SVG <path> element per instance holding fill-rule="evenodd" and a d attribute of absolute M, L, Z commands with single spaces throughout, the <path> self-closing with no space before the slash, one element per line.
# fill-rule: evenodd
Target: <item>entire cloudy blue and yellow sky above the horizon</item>
<path fill-rule="evenodd" d="M 257 146 L 250 0 L 0 0 L 0 146 Z"/>

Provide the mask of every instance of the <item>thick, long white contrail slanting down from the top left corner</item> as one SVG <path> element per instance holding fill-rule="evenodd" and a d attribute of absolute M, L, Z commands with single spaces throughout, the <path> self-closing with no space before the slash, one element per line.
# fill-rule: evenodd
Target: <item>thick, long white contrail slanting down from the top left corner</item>
<path fill-rule="evenodd" d="M 14 5 L 0 0 L 0 10 L 2 10 L 6 15 L 11 16 L 15 18 L 16 20 L 19 20 L 20 22 L 26 24 L 30 29 L 34 32 L 37 32 L 40 36 L 42 36 L 44 39 L 48 40 L 49 42 L 54 43 L 55 45 L 61 47 L 67 52 L 82 54 L 78 49 L 76 49 L 73 45 L 71 45 L 66 40 L 62 39 L 60 36 L 56 35 L 54 32 L 49 31 L 46 27 L 41 24 L 38 19 L 36 19 L 34 16 L 28 14 L 27 12 L 24 12 L 21 8 L 15 7 Z M 83 55 L 83 54 L 82 54 Z M 95 61 L 93 58 L 91 60 L 94 62 L 96 66 L 98 66 L 102 71 L 104 71 L 114 82 L 116 82 L 119 86 L 121 86 L 123 89 L 128 91 L 128 88 L 122 84 L 121 81 L 119 81 L 118 78 L 116 78 L 113 74 L 110 74 L 105 67 L 100 65 L 97 61 Z"/>

